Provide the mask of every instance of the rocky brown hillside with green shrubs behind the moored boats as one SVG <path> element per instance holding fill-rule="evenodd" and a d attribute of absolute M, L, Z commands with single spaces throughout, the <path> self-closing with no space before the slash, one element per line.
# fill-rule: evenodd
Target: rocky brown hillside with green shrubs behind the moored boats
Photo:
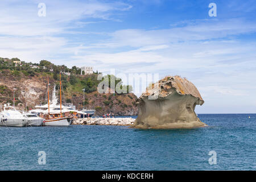
<path fill-rule="evenodd" d="M 15 106 L 20 110 L 33 109 L 35 105 L 47 103 L 47 77 L 49 78 L 50 95 L 53 84 L 59 93 L 58 71 L 69 72 L 61 74 L 63 103 L 72 102 L 77 109 L 83 107 L 83 92 L 85 88 L 85 108 L 96 109 L 96 114 L 114 113 L 115 115 L 136 115 L 137 97 L 133 93 L 100 94 L 97 92 L 98 73 L 79 75 L 79 68 L 68 69 L 64 65 L 56 66 L 49 61 L 42 61 L 36 67 L 22 61 L 22 65 L 13 63 L 15 60 L 0 58 L 0 104 L 13 105 L 15 90 Z M 45 65 L 47 63 L 48 65 Z M 44 69 L 47 67 L 47 69 Z M 61 68 L 65 70 L 61 70 Z M 67 68 L 67 69 L 66 69 Z M 118 81 L 119 82 L 119 81 Z M 117 83 L 116 83 L 117 84 Z M 126 85 L 123 85 L 125 88 Z M 129 86 L 127 86 L 128 88 Z M 51 98 L 51 97 L 50 97 Z"/>

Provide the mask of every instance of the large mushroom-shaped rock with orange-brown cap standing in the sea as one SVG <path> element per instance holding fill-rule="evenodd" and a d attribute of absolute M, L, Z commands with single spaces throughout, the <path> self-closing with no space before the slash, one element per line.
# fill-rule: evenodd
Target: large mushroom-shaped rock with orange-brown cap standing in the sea
<path fill-rule="evenodd" d="M 138 98 L 138 117 L 133 127 L 175 129 L 203 127 L 195 113 L 196 105 L 203 105 L 196 86 L 186 78 L 167 76 L 146 90 Z"/>

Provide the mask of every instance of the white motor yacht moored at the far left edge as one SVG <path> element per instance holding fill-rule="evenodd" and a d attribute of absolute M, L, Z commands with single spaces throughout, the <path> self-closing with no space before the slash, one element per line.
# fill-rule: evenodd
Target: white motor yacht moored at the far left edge
<path fill-rule="evenodd" d="M 26 126 L 27 121 L 23 115 L 12 106 L 4 107 L 0 113 L 0 126 Z"/>

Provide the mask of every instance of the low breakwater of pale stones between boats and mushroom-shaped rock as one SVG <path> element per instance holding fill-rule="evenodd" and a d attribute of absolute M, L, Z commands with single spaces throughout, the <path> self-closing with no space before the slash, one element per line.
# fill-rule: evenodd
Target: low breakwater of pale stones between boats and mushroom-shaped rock
<path fill-rule="evenodd" d="M 73 121 L 73 125 L 133 125 L 133 118 L 80 118 Z"/>

